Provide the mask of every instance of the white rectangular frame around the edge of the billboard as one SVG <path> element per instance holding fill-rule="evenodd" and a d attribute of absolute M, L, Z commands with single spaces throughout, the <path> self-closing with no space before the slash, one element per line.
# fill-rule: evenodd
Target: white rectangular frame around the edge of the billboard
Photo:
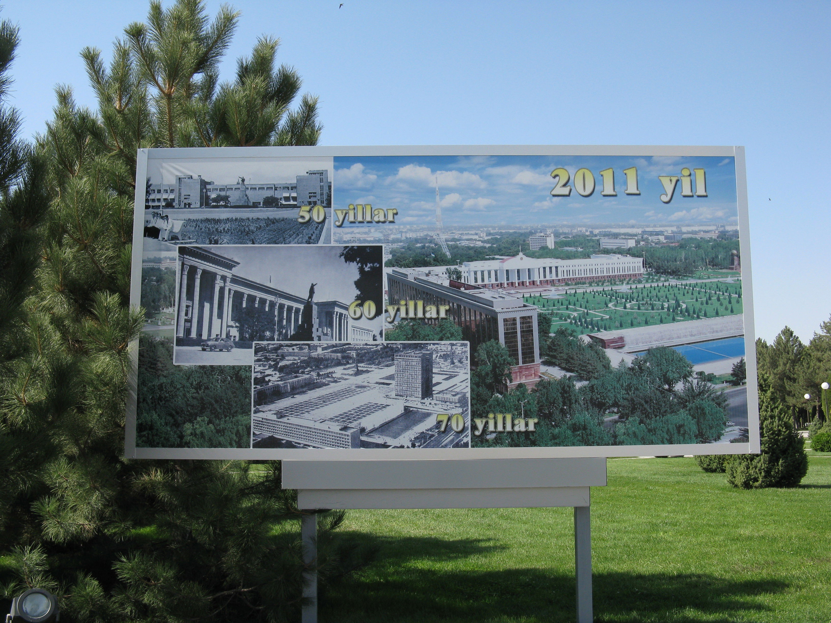
<path fill-rule="evenodd" d="M 355 147 L 222 147 L 144 149 L 138 152 L 136 179 L 146 179 L 153 159 L 248 159 L 264 157 L 336 156 L 440 156 L 440 155 L 553 155 L 553 156 L 722 156 L 735 158 L 736 199 L 740 231 L 747 365 L 747 407 L 750 441 L 741 444 L 675 444 L 638 446 L 573 446 L 468 449 L 190 449 L 137 448 L 135 446 L 138 340 L 130 344 L 131 371 L 125 419 L 125 457 L 130 459 L 291 459 L 291 460 L 412 460 L 412 459 L 549 459 L 666 454 L 758 454 L 760 452 L 759 395 L 756 376 L 755 324 L 750 262 L 750 231 L 745 171 L 745 148 L 740 146 L 648 145 L 421 145 Z M 337 185 L 333 184 L 333 194 Z M 136 184 L 133 239 L 143 238 L 145 186 Z M 141 247 L 134 245 L 130 303 L 140 301 Z M 706 453 L 702 452 L 706 449 Z"/>

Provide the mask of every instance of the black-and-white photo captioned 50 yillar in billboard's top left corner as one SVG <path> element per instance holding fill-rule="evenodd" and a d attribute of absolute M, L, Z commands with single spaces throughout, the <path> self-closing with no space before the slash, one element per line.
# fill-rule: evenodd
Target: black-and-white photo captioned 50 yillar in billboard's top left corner
<path fill-rule="evenodd" d="M 328 244 L 331 158 L 151 159 L 144 237 L 178 244 Z"/>

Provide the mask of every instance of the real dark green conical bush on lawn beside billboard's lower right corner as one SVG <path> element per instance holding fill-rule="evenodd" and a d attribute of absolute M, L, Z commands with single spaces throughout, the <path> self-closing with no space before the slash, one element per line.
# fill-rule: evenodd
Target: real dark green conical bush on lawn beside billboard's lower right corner
<path fill-rule="evenodd" d="M 760 392 L 761 453 L 739 454 L 727 465 L 727 482 L 737 488 L 795 487 L 808 472 L 804 439 L 794 430 L 772 389 Z"/>

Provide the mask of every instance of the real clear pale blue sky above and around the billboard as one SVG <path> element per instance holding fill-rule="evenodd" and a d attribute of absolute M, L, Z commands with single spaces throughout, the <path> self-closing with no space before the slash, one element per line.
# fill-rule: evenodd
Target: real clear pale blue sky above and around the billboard
<path fill-rule="evenodd" d="M 280 37 L 279 61 L 321 98 L 322 145 L 745 145 L 758 334 L 807 340 L 829 318 L 831 3 L 231 3 L 223 76 Z M 24 135 L 44 129 L 57 83 L 95 104 L 78 52 L 109 56 L 146 12 L 6 3 Z"/>

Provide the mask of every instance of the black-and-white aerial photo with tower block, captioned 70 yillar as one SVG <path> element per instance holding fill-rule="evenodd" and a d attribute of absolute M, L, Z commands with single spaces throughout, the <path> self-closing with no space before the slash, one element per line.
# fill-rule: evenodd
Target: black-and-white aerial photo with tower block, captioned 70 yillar
<path fill-rule="evenodd" d="M 465 341 L 254 345 L 253 448 L 469 448 Z"/>

